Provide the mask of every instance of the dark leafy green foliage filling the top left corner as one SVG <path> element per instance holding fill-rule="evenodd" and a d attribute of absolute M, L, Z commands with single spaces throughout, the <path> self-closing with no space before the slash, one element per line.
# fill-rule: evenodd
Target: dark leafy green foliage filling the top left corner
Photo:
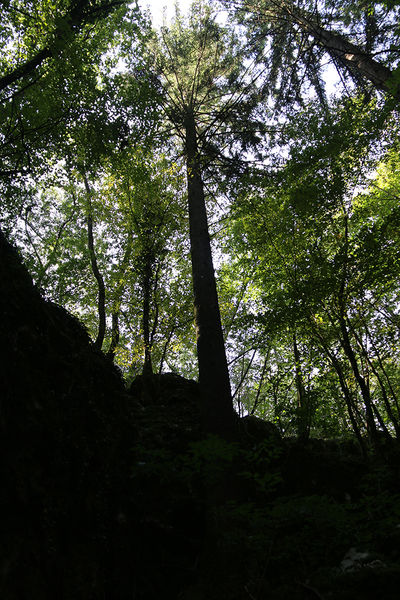
<path fill-rule="evenodd" d="M 44 154 L 49 160 L 63 146 L 68 125 L 93 120 L 100 108 L 104 112 L 99 64 L 118 43 L 115 30 L 132 31 L 137 19 L 137 12 L 127 13 L 118 1 L 6 3 L 0 32 L 5 48 L 0 65 L 2 180 L 43 171 Z"/>

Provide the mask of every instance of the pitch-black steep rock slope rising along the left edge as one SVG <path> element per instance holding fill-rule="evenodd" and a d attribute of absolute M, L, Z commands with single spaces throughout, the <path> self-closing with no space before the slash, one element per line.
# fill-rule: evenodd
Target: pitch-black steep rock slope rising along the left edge
<path fill-rule="evenodd" d="M 0 314 L 0 597 L 104 597 L 133 438 L 122 379 L 2 234 Z"/>

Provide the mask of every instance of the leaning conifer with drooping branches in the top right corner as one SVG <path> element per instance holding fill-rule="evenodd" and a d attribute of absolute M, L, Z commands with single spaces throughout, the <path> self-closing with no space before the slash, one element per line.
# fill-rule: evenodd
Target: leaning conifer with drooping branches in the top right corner
<path fill-rule="evenodd" d="M 266 86 L 282 107 L 301 104 L 310 87 L 326 103 L 327 62 L 343 84 L 350 77 L 399 100 L 397 6 L 348 0 L 222 4 L 246 27 L 249 50 L 266 65 Z"/>

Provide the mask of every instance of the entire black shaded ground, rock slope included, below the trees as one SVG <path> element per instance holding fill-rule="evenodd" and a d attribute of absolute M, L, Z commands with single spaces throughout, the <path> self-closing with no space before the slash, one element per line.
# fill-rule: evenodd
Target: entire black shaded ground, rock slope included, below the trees
<path fill-rule="evenodd" d="M 204 437 L 194 382 L 126 390 L 3 238 L 0 258 L 2 599 L 398 597 L 395 444 Z"/>

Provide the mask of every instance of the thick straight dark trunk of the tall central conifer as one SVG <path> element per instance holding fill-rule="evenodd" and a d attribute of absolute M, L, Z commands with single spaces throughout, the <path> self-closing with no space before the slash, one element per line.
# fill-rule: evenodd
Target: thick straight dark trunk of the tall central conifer
<path fill-rule="evenodd" d="M 210 433 L 230 435 L 234 413 L 212 262 L 193 112 L 185 116 L 190 249 L 203 420 Z"/>

